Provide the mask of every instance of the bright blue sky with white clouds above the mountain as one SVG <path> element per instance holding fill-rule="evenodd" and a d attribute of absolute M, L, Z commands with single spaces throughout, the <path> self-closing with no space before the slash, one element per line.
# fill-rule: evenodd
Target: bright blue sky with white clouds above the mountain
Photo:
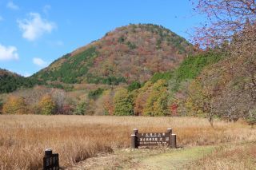
<path fill-rule="evenodd" d="M 30 76 L 106 32 L 130 23 L 165 26 L 182 37 L 203 17 L 189 0 L 0 0 L 0 68 Z"/>

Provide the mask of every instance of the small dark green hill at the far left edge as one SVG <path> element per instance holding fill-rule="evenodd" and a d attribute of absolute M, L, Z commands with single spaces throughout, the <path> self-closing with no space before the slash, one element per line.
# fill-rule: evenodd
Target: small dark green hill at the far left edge
<path fill-rule="evenodd" d="M 0 93 L 10 93 L 18 88 L 30 88 L 35 85 L 33 79 L 27 79 L 17 73 L 12 73 L 6 69 L 0 69 Z"/>

